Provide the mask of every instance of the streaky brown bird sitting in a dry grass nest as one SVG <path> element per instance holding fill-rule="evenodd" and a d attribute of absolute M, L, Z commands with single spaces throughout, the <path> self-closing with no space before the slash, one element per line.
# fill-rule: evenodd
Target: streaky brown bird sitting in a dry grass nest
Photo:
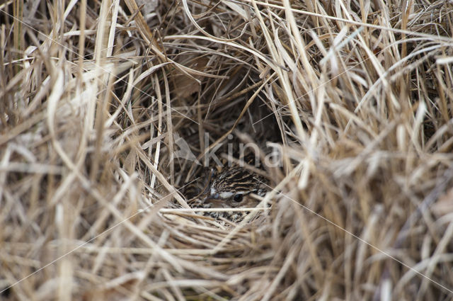
<path fill-rule="evenodd" d="M 244 167 L 226 167 L 212 174 L 205 191 L 189 202 L 192 208 L 253 208 L 259 201 L 251 194 L 263 197 L 268 192 L 267 179 Z M 239 222 L 247 213 L 226 210 L 204 212 L 204 215 Z"/>

